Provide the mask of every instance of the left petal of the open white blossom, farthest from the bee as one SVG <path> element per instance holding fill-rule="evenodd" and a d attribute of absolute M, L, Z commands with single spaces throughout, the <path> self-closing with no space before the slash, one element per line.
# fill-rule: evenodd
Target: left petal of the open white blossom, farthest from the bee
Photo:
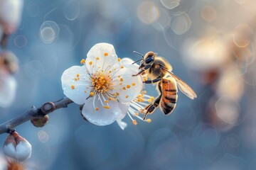
<path fill-rule="evenodd" d="M 79 80 L 77 74 L 79 74 Z M 77 104 L 83 104 L 90 94 L 90 79 L 85 66 L 73 66 L 66 69 L 61 77 L 62 88 L 65 96 Z M 72 86 L 75 88 L 73 89 Z"/>

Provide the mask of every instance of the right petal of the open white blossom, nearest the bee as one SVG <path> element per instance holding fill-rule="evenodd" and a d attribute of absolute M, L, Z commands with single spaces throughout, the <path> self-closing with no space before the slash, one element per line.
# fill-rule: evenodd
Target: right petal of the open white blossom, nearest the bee
<path fill-rule="evenodd" d="M 115 91 L 119 93 L 118 99 L 120 101 L 132 101 L 142 91 L 144 86 L 142 77 L 132 77 L 138 72 L 139 69 L 134 64 L 124 64 L 124 68 L 117 72 L 117 77 L 114 77 L 114 86 L 117 88 Z"/>

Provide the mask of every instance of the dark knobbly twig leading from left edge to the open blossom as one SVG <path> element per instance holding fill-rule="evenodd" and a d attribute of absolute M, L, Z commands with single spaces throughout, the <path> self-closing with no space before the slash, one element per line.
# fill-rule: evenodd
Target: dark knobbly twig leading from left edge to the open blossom
<path fill-rule="evenodd" d="M 52 113 L 53 111 L 59 108 L 67 108 L 68 104 L 70 103 L 73 103 L 73 101 L 65 97 L 60 99 L 59 101 L 55 101 L 55 102 L 49 101 L 49 102 L 43 103 L 43 105 L 40 108 L 36 108 L 35 106 L 32 106 L 26 113 L 22 115 L 18 115 L 16 118 L 13 118 L 12 120 L 2 123 L 0 125 L 0 134 L 4 132 L 10 132 L 16 126 L 21 125 L 22 123 L 25 123 L 26 121 L 31 120 L 32 118 L 41 118 L 44 115 L 47 115 L 48 113 Z"/>

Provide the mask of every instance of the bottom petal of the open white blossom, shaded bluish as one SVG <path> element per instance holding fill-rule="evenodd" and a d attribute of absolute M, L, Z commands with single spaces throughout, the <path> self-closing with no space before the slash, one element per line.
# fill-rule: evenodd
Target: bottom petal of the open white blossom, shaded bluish
<path fill-rule="evenodd" d="M 94 98 L 95 107 L 93 106 Z M 97 96 L 88 98 L 87 101 L 85 101 L 85 106 L 82 108 L 82 115 L 84 115 L 90 123 L 95 125 L 110 125 L 117 120 L 121 114 L 121 110 L 119 109 L 117 101 L 109 101 L 108 105 L 110 106 L 109 109 L 103 108 L 102 103 Z M 95 111 L 96 107 L 99 108 L 99 111 Z"/>

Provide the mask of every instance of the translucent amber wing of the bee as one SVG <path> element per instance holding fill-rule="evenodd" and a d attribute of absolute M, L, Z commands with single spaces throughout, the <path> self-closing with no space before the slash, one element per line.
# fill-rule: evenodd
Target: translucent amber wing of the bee
<path fill-rule="evenodd" d="M 174 79 L 177 81 L 178 89 L 180 89 L 183 94 L 186 94 L 186 96 L 188 96 L 188 98 L 191 98 L 191 99 L 194 99 L 197 97 L 195 91 L 193 91 L 193 89 L 191 89 L 191 87 L 188 86 L 188 84 L 186 84 L 182 79 L 177 77 L 172 72 L 169 72 L 168 69 L 166 69 L 166 68 L 162 68 L 162 69 L 164 69 L 166 72 L 168 72 L 171 77 L 174 77 Z"/>

